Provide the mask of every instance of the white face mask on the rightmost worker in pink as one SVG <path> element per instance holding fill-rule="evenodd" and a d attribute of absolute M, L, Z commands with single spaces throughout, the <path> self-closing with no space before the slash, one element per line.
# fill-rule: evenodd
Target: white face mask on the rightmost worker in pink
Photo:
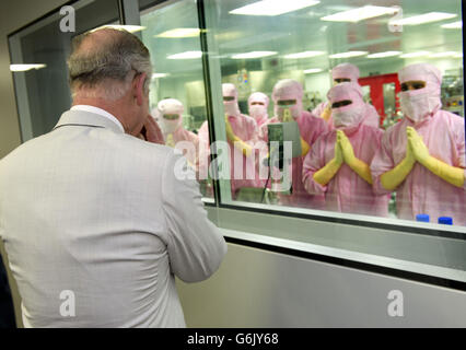
<path fill-rule="evenodd" d="M 415 124 L 426 119 L 439 103 L 439 97 L 429 96 L 426 91 L 404 91 L 399 93 L 401 112 Z"/>

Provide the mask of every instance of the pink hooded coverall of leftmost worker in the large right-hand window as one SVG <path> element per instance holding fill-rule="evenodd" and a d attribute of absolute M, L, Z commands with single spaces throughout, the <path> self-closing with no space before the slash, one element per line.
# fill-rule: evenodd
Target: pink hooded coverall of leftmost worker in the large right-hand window
<path fill-rule="evenodd" d="M 222 84 L 222 93 L 223 97 L 234 97 L 233 101 L 223 101 L 225 115 L 228 115 L 228 119 L 230 121 L 230 125 L 232 126 L 234 135 L 254 148 L 256 145 L 256 142 L 258 141 L 258 128 L 256 121 L 254 120 L 254 118 L 241 114 L 237 104 L 237 90 L 233 84 Z M 203 149 L 209 150 L 209 126 L 207 121 L 205 121 L 199 129 L 199 139 L 200 142 L 203 142 Z M 257 167 L 259 150 L 254 150 L 254 158 L 245 156 L 242 151 L 234 147 L 234 144 L 230 140 L 228 140 L 228 143 L 230 147 L 229 159 L 232 198 L 235 199 L 238 190 L 243 187 L 264 187 L 267 178 L 259 178 Z M 210 150 L 207 153 L 208 154 L 203 155 L 200 162 L 209 163 Z M 205 163 L 202 163 L 202 165 L 203 164 Z M 235 168 L 240 166 L 243 167 L 243 176 L 242 178 L 235 178 Z M 246 167 L 254 170 L 253 176 L 249 176 L 253 178 L 247 178 Z"/>

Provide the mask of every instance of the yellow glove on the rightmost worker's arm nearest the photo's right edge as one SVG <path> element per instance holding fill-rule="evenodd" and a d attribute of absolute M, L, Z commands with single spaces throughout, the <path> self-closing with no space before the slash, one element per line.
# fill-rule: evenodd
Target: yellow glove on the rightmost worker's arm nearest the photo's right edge
<path fill-rule="evenodd" d="M 422 138 L 412 127 L 407 127 L 408 143 L 412 149 L 416 160 L 427 167 L 430 172 L 441 177 L 448 184 L 462 188 L 465 182 L 464 168 L 448 165 L 429 153 L 429 149 L 422 141 Z"/>

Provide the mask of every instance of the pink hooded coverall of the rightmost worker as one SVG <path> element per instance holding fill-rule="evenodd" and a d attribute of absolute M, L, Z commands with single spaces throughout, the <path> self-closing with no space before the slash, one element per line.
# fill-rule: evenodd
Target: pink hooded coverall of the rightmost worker
<path fill-rule="evenodd" d="M 465 121 L 441 109 L 441 72 L 431 65 L 417 63 L 401 69 L 398 78 L 401 84 L 407 81 L 426 82 L 423 89 L 400 92 L 401 110 L 403 98 L 422 98 L 419 105 L 428 112 L 420 120 L 413 121 L 404 110 L 405 118 L 386 130 L 382 147 L 371 164 L 374 188 L 378 194 L 389 192 L 382 186 L 381 175 L 394 168 L 406 155 L 408 126 L 422 137 L 431 156 L 455 167 L 466 167 Z M 439 217 L 451 217 L 453 224 L 466 225 L 466 182 L 463 188 L 458 188 L 416 162 L 396 189 L 396 208 L 400 219 L 415 220 L 422 213 L 430 215 L 430 222 L 436 223 Z"/>

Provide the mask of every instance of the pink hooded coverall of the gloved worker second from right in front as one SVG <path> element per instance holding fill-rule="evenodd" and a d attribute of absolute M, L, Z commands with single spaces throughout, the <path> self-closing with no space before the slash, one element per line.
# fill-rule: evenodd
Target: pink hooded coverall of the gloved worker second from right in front
<path fill-rule="evenodd" d="M 388 214 L 388 197 L 375 195 L 372 185 L 359 176 L 343 163 L 337 174 L 326 186 L 314 180 L 314 174 L 323 168 L 335 156 L 337 130 L 348 137 L 356 158 L 370 165 L 377 151 L 383 131 L 362 122 L 364 118 L 364 101 L 359 84 L 343 82 L 331 88 L 327 94 L 330 104 L 351 101 L 352 104 L 334 108 L 333 113 L 341 113 L 342 124 L 336 124 L 335 129 L 321 136 L 307 153 L 303 165 L 303 183 L 305 189 L 313 195 L 325 194 L 327 210 L 359 214 Z M 336 120 L 334 120 L 336 122 Z"/>

